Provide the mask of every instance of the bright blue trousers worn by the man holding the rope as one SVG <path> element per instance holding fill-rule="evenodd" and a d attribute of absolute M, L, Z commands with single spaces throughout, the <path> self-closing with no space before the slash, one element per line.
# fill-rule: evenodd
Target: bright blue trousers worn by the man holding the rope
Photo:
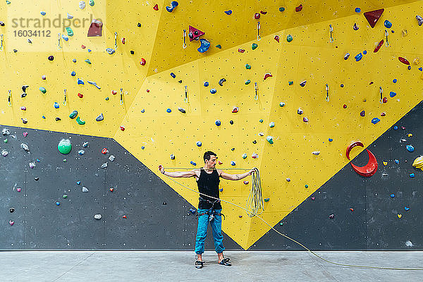
<path fill-rule="evenodd" d="M 208 209 L 198 209 L 198 214 L 207 212 Z M 213 209 L 214 219 L 210 221 L 212 226 L 213 240 L 214 240 L 214 250 L 219 254 L 225 250 L 223 247 L 223 235 L 222 235 L 222 216 L 216 213 L 220 213 L 221 209 Z M 204 214 L 198 216 L 198 228 L 197 228 L 197 238 L 195 239 L 195 253 L 201 255 L 204 252 L 204 240 L 207 236 L 207 226 L 209 225 L 209 214 Z"/>

